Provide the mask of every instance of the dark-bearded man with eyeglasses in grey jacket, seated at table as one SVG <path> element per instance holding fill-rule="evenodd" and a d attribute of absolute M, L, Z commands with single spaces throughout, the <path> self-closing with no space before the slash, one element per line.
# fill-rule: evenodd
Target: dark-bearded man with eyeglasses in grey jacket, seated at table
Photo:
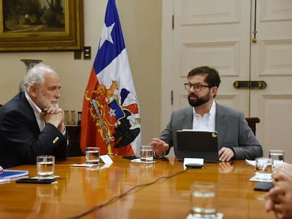
<path fill-rule="evenodd" d="M 152 139 L 150 145 L 156 158 L 169 154 L 171 146 L 176 144 L 176 131 L 183 129 L 218 132 L 222 137 L 218 142 L 219 161 L 254 160 L 262 156 L 262 146 L 248 126 L 245 115 L 214 101 L 220 82 L 217 70 L 208 66 L 194 68 L 188 73 L 185 89 L 190 106 L 174 111 L 160 137 Z"/>

